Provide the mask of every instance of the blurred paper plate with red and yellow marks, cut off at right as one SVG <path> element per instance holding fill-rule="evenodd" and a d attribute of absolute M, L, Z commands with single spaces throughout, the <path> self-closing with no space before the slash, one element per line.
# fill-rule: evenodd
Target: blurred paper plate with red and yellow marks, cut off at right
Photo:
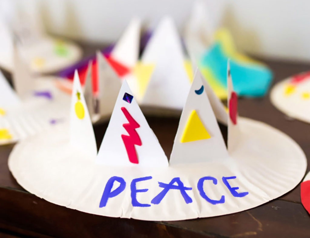
<path fill-rule="evenodd" d="M 310 123 L 310 75 L 301 81 L 294 80 L 296 76 L 277 83 L 271 90 L 270 99 L 287 116 Z"/>

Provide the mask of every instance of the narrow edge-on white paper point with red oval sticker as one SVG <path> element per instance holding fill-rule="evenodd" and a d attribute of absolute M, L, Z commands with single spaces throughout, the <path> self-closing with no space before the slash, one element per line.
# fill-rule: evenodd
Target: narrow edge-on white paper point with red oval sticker
<path fill-rule="evenodd" d="M 228 152 L 232 153 L 239 143 L 239 125 L 238 119 L 238 96 L 233 91 L 232 76 L 230 72 L 229 60 L 227 61 L 227 107 L 228 107 L 228 128 L 227 128 L 227 147 Z"/>

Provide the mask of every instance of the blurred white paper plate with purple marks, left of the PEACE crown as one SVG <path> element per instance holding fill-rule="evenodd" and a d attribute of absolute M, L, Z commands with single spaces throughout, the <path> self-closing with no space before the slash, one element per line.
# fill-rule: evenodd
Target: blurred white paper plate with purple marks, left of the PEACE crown
<path fill-rule="evenodd" d="M 16 142 L 55 124 L 68 121 L 71 96 L 55 87 L 55 77 L 40 77 L 32 93 L 22 98 L 21 105 L 8 108 L 0 116 L 0 130 L 7 130 L 11 138 L 1 137 L 0 145 Z M 52 96 L 34 96 L 35 92 L 49 92 Z"/>

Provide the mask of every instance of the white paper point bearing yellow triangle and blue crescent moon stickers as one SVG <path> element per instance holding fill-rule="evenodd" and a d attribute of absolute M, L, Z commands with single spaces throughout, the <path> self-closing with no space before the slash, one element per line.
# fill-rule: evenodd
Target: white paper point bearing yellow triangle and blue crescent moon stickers
<path fill-rule="evenodd" d="M 197 113 L 197 117 L 193 112 Z M 194 121 L 188 121 L 191 117 Z M 191 122 L 196 123 L 196 127 L 189 125 Z M 191 136 L 184 136 L 184 133 L 189 133 L 189 129 L 193 130 Z M 199 135 L 199 130 L 203 137 Z M 192 142 L 184 143 L 182 140 L 185 138 Z M 228 158 L 228 153 L 223 136 L 205 92 L 201 74 L 196 73 L 181 114 L 170 155 L 170 165 L 203 163 L 225 158 Z"/>

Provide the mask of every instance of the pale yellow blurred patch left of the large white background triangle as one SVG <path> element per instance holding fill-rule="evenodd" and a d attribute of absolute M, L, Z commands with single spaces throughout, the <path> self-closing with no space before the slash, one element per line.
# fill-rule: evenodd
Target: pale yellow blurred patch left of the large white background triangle
<path fill-rule="evenodd" d="M 137 62 L 135 67 L 132 69 L 133 74 L 135 75 L 138 83 L 138 93 L 140 97 L 144 96 L 148 82 L 150 81 L 152 72 L 154 69 L 153 64 L 143 64 Z"/>

